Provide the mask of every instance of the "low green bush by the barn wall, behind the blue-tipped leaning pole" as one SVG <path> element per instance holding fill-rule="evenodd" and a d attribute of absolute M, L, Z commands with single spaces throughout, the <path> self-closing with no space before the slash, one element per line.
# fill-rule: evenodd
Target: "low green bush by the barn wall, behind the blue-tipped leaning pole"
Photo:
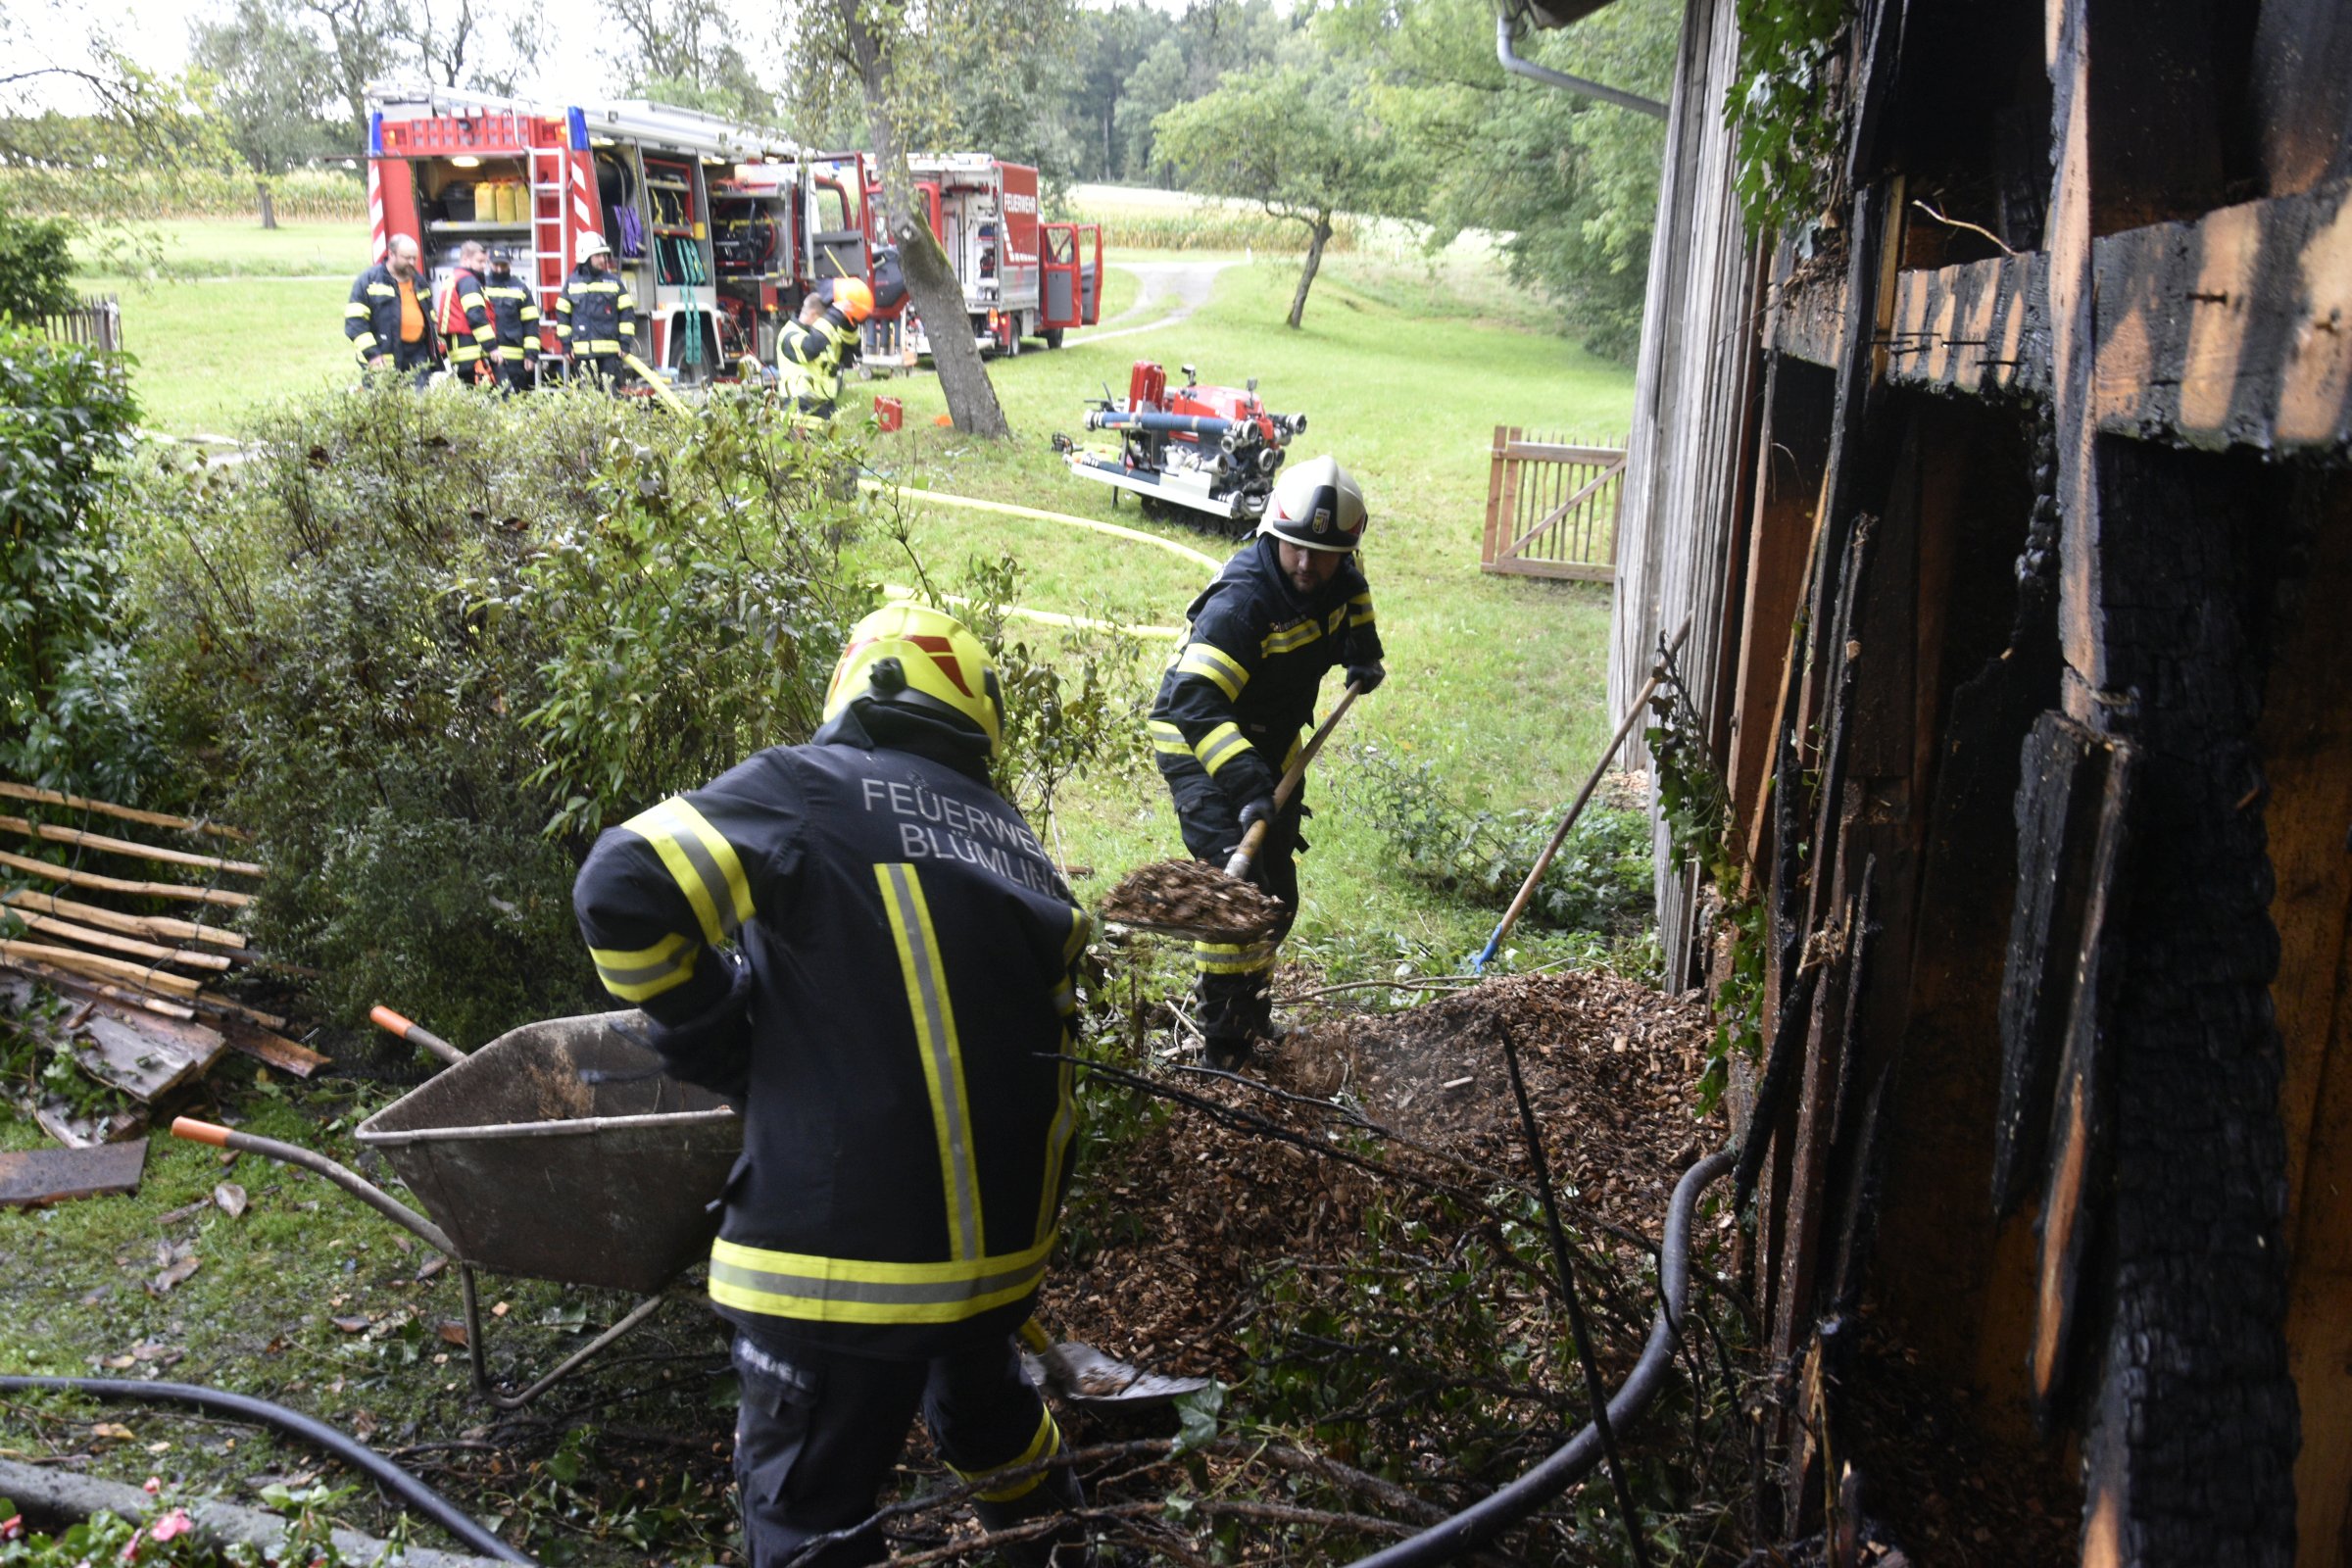
<path fill-rule="evenodd" d="M 1404 766 L 1376 748 L 1357 748 L 1343 788 L 1418 882 L 1470 898 L 1501 914 L 1559 825 L 1557 813 L 1477 811 L 1456 799 L 1428 762 Z M 1639 811 L 1585 806 L 1536 884 L 1522 919 L 1562 931 L 1630 936 L 1649 924 L 1649 818 Z"/>

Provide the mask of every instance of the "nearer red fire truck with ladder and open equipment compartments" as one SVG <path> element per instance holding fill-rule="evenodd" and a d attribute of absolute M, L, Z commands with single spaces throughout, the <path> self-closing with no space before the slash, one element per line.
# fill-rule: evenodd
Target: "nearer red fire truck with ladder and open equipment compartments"
<path fill-rule="evenodd" d="M 783 132 L 668 103 L 527 103 L 369 87 L 372 254 L 409 235 L 445 282 L 466 240 L 506 244 L 539 292 L 557 353 L 555 296 L 581 235 L 602 235 L 637 299 L 637 353 L 680 381 L 776 357 L 776 329 L 828 277 L 873 282 L 875 167 L 807 153 Z"/>

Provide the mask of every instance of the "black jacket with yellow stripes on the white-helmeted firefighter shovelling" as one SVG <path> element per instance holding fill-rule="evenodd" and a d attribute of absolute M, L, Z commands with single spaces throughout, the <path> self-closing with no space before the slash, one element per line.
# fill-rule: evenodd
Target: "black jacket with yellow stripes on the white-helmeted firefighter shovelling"
<path fill-rule="evenodd" d="M 1308 597 L 1282 576 L 1265 534 L 1225 562 L 1185 621 L 1152 701 L 1152 752 L 1162 773 L 1204 769 L 1235 806 L 1275 792 L 1324 672 L 1381 658 L 1355 557 Z"/>

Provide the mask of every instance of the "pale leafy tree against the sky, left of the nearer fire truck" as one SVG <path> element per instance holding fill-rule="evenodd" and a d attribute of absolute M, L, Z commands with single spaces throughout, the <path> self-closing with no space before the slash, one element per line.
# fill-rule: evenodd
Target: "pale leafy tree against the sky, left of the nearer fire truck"
<path fill-rule="evenodd" d="M 212 103 L 256 174 L 353 150 L 327 113 L 341 103 L 334 56 L 287 0 L 238 0 L 228 16 L 193 24 L 188 63 L 212 78 Z"/>

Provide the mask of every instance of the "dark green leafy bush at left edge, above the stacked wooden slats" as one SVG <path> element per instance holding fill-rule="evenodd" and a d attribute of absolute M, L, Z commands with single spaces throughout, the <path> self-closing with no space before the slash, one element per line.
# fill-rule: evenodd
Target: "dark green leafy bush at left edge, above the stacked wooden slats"
<path fill-rule="evenodd" d="M 0 324 L 0 773 L 129 795 L 108 510 L 139 409 L 120 362 Z"/>

